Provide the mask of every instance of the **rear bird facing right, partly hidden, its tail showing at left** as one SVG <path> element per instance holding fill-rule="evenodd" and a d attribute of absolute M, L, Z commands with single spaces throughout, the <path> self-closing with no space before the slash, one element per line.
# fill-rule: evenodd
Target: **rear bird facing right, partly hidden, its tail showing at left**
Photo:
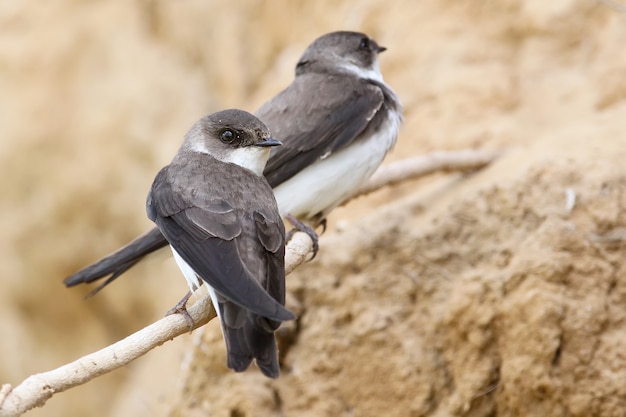
<path fill-rule="evenodd" d="M 393 147 L 402 108 L 380 73 L 378 54 L 385 49 L 359 32 L 323 35 L 302 54 L 292 83 L 256 112 L 283 142 L 264 170 L 283 217 L 322 222 Z M 152 229 L 64 282 L 74 286 L 108 276 L 96 292 L 165 246 L 159 229 Z"/>

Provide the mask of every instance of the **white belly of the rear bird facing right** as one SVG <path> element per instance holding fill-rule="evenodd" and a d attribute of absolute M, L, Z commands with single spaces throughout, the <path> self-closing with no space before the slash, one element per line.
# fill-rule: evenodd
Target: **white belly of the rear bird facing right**
<path fill-rule="evenodd" d="M 399 127 L 400 117 L 392 115 L 371 137 L 318 160 L 274 188 L 281 215 L 306 219 L 343 203 L 380 166 Z"/>

